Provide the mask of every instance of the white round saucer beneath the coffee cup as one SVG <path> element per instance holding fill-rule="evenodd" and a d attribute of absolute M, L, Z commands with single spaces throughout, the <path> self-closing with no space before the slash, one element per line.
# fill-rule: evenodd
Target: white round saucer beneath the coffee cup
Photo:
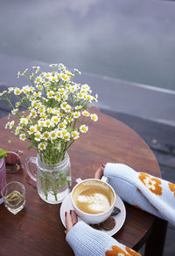
<path fill-rule="evenodd" d="M 126 218 L 126 209 L 125 206 L 123 204 L 122 199 L 116 194 L 116 204 L 115 206 L 117 208 L 121 209 L 121 212 L 117 215 L 117 216 L 113 216 L 113 218 L 116 220 L 116 226 L 114 227 L 114 229 L 106 231 L 106 230 L 102 230 L 103 232 L 109 234 L 109 236 L 113 236 L 114 234 L 116 234 L 116 232 L 118 230 L 120 230 L 123 226 L 123 223 L 125 221 Z M 65 223 L 65 212 L 69 212 L 71 209 L 73 209 L 73 204 L 71 201 L 71 193 L 66 195 L 66 198 L 64 199 L 64 201 L 61 204 L 60 207 L 60 219 L 61 222 L 63 223 L 63 225 L 66 228 L 66 223 Z M 78 221 L 80 221 L 81 218 L 78 217 Z"/>

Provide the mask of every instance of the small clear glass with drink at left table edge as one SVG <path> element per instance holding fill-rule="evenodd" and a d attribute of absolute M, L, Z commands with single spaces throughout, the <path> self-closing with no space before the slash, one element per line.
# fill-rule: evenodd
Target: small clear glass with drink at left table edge
<path fill-rule="evenodd" d="M 25 187 L 18 181 L 12 181 L 1 190 L 5 207 L 16 215 L 25 208 Z"/>

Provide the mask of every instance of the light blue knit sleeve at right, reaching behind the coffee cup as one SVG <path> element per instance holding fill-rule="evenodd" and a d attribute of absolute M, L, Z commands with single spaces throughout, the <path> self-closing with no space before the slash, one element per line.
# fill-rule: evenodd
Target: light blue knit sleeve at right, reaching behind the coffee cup
<path fill-rule="evenodd" d="M 175 185 L 130 166 L 108 163 L 104 176 L 123 201 L 175 225 Z"/>

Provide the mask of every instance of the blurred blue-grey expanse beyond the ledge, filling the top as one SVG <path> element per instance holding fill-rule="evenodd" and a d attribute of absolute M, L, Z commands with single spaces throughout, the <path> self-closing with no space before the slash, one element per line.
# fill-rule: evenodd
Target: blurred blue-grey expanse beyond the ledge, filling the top
<path fill-rule="evenodd" d="M 175 4 L 0 1 L 0 53 L 175 90 Z"/>

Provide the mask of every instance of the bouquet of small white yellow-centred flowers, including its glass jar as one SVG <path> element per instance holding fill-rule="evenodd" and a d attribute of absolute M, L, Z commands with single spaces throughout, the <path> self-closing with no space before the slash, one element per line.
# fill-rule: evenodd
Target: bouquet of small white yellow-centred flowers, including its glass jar
<path fill-rule="evenodd" d="M 59 194 L 65 187 L 67 194 L 70 187 L 67 150 L 81 134 L 88 132 L 88 121 L 98 120 L 95 113 L 87 110 L 92 102 L 97 102 L 97 95 L 91 95 L 88 84 L 73 82 L 74 76 L 81 74 L 78 69 L 71 72 L 63 64 L 50 67 L 50 72 L 43 72 L 39 67 L 32 67 L 31 74 L 28 69 L 18 72 L 18 77 L 29 78 L 31 85 L 10 87 L 0 93 L 0 99 L 7 100 L 12 108 L 9 119 L 18 116 L 18 123 L 10 120 L 5 128 L 13 129 L 20 140 L 30 142 L 29 149 L 38 151 L 35 161 L 38 194 L 45 201 L 49 201 L 49 196 L 59 201 Z M 15 104 L 11 101 L 11 93 L 16 96 Z M 21 112 L 21 106 L 28 111 Z M 64 167 L 60 171 L 64 161 L 66 170 Z M 33 178 L 32 174 L 30 176 Z"/>

